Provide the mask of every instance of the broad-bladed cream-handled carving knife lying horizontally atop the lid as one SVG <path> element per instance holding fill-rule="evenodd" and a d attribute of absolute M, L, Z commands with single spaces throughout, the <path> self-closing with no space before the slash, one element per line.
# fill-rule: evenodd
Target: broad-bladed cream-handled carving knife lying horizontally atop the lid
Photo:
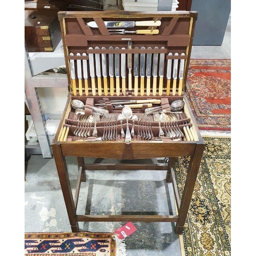
<path fill-rule="evenodd" d="M 161 20 L 145 20 L 142 22 L 130 22 L 130 21 L 120 21 L 120 22 L 104 22 L 105 26 L 107 28 L 134 28 L 135 26 L 141 26 L 141 27 L 158 27 L 161 25 Z M 87 25 L 91 28 L 98 28 L 98 25 L 96 22 L 89 22 Z"/>

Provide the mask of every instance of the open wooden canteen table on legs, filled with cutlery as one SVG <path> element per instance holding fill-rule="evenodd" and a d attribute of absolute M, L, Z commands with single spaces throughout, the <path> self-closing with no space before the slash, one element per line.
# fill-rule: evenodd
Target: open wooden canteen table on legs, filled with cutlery
<path fill-rule="evenodd" d="M 68 101 L 52 150 L 73 232 L 78 222 L 175 222 L 182 233 L 204 141 L 186 98 L 197 12 L 58 12 L 69 81 Z M 78 160 L 73 198 L 66 156 Z M 190 156 L 183 195 L 177 157 Z M 94 164 L 86 158 L 131 160 Z M 134 159 L 165 158 L 166 164 Z M 86 170 L 166 170 L 176 215 L 77 215 Z"/>

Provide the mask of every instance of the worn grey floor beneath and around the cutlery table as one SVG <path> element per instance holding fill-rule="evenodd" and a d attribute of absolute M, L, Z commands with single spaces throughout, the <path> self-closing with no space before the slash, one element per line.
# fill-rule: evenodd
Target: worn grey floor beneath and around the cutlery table
<path fill-rule="evenodd" d="M 194 46 L 191 58 L 231 58 L 229 19 L 222 46 Z M 92 161 L 93 159 L 89 159 Z M 159 161 L 161 161 L 159 159 Z M 72 189 L 76 187 L 78 168 L 76 159 L 67 158 Z M 91 214 L 98 210 L 105 214 L 126 211 L 172 210 L 167 207 L 173 198 L 172 185 L 164 182 L 161 171 L 100 171 L 88 172 L 88 182 L 82 184 L 78 211 L 84 214 L 86 200 Z M 166 192 L 170 197 L 167 197 Z M 83 197 L 84 196 L 84 197 Z M 100 206 L 100 207 L 99 207 Z M 82 212 L 83 211 L 83 212 Z M 81 230 L 113 232 L 124 223 L 80 223 Z M 137 231 L 125 239 L 127 256 L 180 256 L 180 237 L 170 223 L 134 223 Z M 25 232 L 70 231 L 68 215 L 56 172 L 54 159 L 32 155 L 28 162 L 25 181 Z"/>

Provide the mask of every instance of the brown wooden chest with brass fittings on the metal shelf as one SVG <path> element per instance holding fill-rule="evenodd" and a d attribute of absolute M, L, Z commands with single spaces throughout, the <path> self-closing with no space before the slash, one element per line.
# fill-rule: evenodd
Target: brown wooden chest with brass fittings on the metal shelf
<path fill-rule="evenodd" d="M 60 40 L 57 11 L 25 11 L 25 41 L 29 52 L 53 52 Z"/>

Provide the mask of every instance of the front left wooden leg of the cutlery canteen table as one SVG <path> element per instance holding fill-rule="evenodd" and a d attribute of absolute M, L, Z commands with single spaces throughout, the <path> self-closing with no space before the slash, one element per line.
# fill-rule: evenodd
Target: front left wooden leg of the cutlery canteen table
<path fill-rule="evenodd" d="M 66 159 L 65 156 L 62 156 L 61 154 L 61 147 L 59 144 L 53 144 L 52 150 L 55 158 L 63 198 L 68 211 L 71 230 L 72 232 L 79 232 L 79 225 L 76 220 L 76 209 L 72 195 Z"/>

